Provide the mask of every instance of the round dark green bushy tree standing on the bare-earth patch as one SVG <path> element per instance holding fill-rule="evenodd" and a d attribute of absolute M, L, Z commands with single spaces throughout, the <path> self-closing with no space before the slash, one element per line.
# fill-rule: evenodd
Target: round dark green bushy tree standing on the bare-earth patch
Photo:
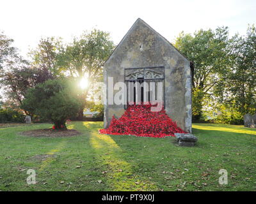
<path fill-rule="evenodd" d="M 70 80 L 47 80 L 28 90 L 22 108 L 52 121 L 56 129 L 67 129 L 66 120 L 77 114 L 82 103 L 76 90 Z"/>

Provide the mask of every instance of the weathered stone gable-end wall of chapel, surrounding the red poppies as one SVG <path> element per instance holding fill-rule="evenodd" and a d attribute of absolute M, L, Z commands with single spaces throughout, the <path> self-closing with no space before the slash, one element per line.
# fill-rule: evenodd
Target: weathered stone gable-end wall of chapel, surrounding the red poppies
<path fill-rule="evenodd" d="M 163 94 L 160 99 L 163 101 L 166 113 L 177 122 L 177 126 L 191 133 L 190 62 L 140 18 L 132 25 L 104 64 L 106 87 L 109 86 L 108 77 L 113 77 L 114 85 L 117 82 L 126 84 L 128 82 L 162 82 L 163 85 L 159 90 L 162 90 Z M 118 91 L 114 90 L 114 94 L 115 92 Z M 125 90 L 127 101 L 134 92 Z M 150 101 L 152 97 L 155 98 L 158 95 L 153 91 L 147 96 L 139 93 L 139 96 L 141 101 Z M 106 89 L 104 128 L 108 128 L 113 115 L 116 118 L 121 117 L 126 108 L 126 105 L 109 105 L 108 100 L 108 89 Z"/>

